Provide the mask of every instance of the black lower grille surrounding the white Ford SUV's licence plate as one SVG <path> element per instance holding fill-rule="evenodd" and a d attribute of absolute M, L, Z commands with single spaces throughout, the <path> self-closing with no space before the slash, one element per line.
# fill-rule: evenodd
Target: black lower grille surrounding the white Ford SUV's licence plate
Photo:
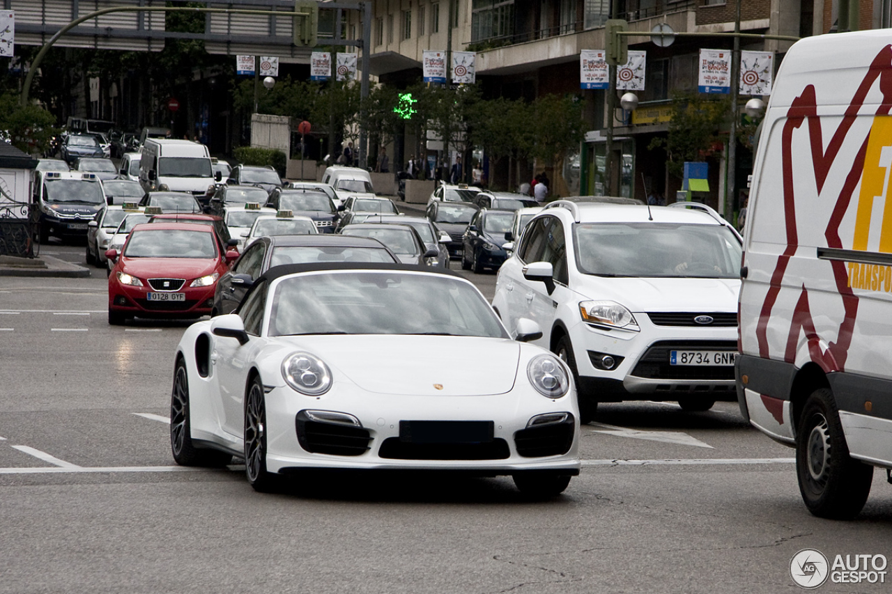
<path fill-rule="evenodd" d="M 737 351 L 735 341 L 661 341 L 650 345 L 630 375 L 666 380 L 733 380 L 734 366 L 669 365 L 669 351 Z"/>

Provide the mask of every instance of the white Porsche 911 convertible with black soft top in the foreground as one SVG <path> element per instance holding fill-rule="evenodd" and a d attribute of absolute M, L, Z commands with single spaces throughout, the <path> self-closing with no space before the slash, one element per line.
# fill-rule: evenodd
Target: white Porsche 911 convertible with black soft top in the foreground
<path fill-rule="evenodd" d="M 178 464 L 244 457 L 258 491 L 307 468 L 512 475 L 534 496 L 579 474 L 566 365 L 511 340 L 474 285 L 400 264 L 270 268 L 235 313 L 189 326 L 170 401 Z"/>

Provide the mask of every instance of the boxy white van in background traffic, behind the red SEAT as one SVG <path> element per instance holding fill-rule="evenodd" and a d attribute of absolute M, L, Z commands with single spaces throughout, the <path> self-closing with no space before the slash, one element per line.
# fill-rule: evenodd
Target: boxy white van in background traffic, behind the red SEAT
<path fill-rule="evenodd" d="M 170 138 L 149 138 L 143 144 L 139 183 L 146 192 L 169 190 L 204 196 L 221 178 L 214 174 L 211 153 L 204 144 Z"/>

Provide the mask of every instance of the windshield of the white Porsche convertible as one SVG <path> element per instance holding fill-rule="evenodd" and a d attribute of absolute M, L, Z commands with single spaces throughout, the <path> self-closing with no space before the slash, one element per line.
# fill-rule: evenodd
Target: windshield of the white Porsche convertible
<path fill-rule="evenodd" d="M 358 270 L 276 287 L 268 334 L 448 334 L 507 338 L 489 303 L 449 276 Z"/>

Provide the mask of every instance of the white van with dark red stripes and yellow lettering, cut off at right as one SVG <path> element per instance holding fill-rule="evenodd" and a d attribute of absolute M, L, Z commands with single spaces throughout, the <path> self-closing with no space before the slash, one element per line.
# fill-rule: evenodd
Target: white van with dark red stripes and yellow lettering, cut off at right
<path fill-rule="evenodd" d="M 796 448 L 815 515 L 851 518 L 892 468 L 892 52 L 886 30 L 784 57 L 750 191 L 739 302 L 744 417 Z"/>

